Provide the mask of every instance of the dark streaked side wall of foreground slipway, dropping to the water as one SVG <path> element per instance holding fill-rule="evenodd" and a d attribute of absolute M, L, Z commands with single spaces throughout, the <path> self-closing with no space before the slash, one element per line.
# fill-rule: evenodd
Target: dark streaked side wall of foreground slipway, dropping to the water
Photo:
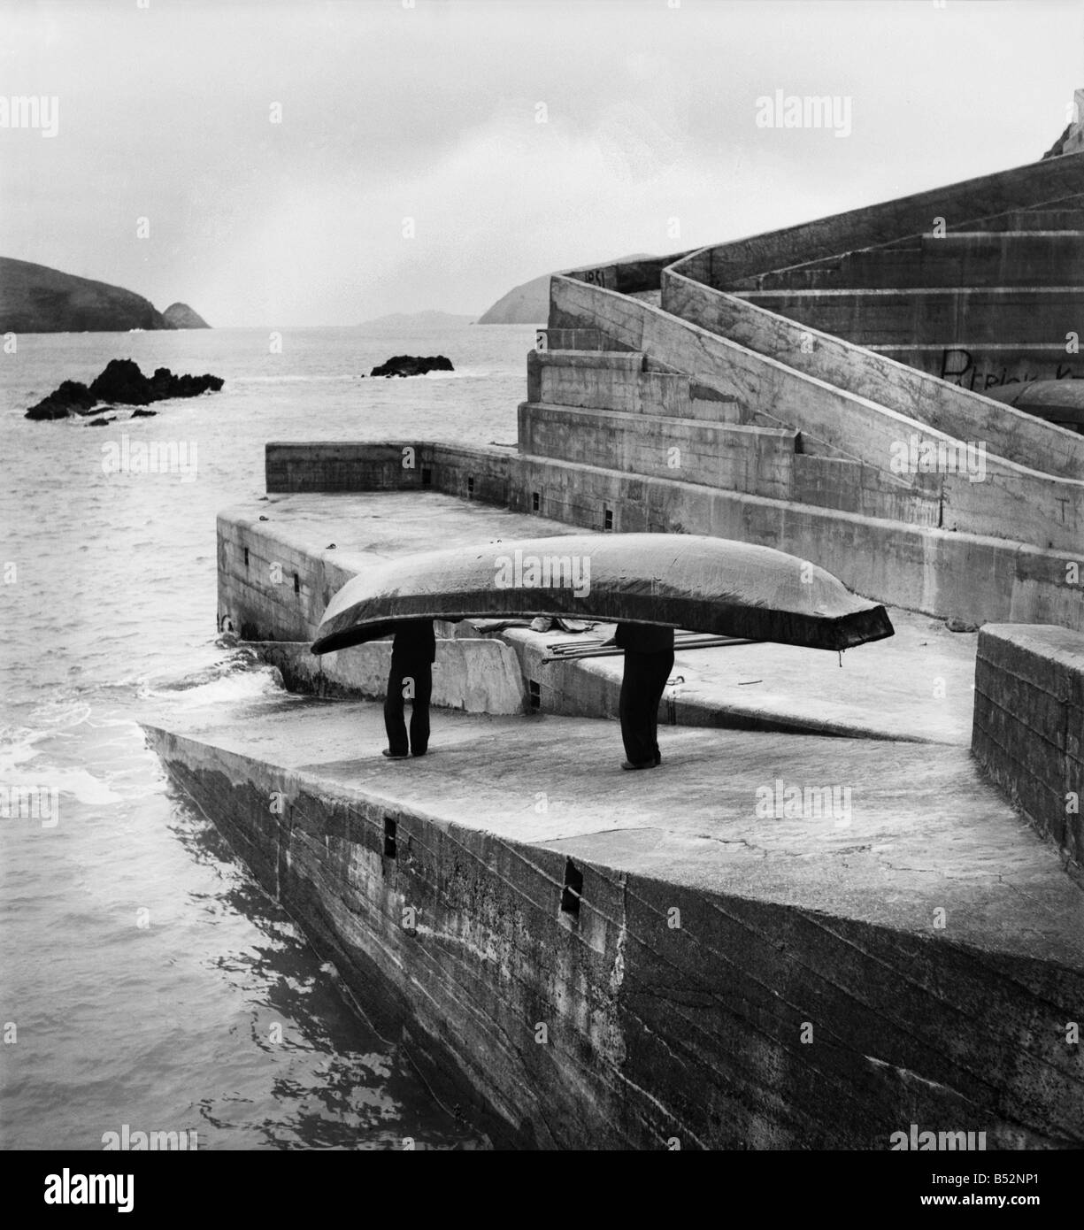
<path fill-rule="evenodd" d="M 1073 969 L 619 871 L 591 838 L 508 839 L 148 733 L 380 1032 L 498 1145 L 886 1150 L 913 1122 L 989 1149 L 1082 1140 Z"/>

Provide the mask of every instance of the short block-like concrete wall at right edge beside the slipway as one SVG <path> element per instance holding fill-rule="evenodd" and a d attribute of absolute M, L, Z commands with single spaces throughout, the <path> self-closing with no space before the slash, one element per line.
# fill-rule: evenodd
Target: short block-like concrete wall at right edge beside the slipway
<path fill-rule="evenodd" d="M 1084 636 L 1043 625 L 983 627 L 971 745 L 1084 883 Z"/>

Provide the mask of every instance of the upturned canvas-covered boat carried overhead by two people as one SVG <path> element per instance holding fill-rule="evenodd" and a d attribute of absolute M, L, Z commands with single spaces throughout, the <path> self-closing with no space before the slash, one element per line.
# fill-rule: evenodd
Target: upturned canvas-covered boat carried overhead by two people
<path fill-rule="evenodd" d="M 892 636 L 883 606 L 771 547 L 691 534 L 577 534 L 408 555 L 367 568 L 329 604 L 313 652 L 380 640 L 406 620 L 536 615 L 816 649 Z"/>

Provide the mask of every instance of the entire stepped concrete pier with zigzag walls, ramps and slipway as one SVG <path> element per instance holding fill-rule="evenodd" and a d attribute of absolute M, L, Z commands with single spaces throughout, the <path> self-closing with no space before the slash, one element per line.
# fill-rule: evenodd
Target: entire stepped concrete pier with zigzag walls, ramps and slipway
<path fill-rule="evenodd" d="M 271 443 L 220 515 L 219 627 L 314 695 L 150 740 L 495 1143 L 1084 1145 L 1084 435 L 982 395 L 1082 375 L 1082 175 L 555 276 L 517 448 Z M 388 646 L 306 653 L 332 594 L 573 526 L 776 547 L 897 635 L 679 652 L 623 772 L 620 659 L 445 624 L 454 707 L 385 761 Z"/>

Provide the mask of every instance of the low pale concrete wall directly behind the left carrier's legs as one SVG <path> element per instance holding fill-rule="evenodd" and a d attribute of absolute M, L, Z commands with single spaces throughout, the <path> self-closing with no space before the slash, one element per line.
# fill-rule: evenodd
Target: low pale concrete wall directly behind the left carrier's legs
<path fill-rule="evenodd" d="M 438 631 L 445 629 L 442 624 Z M 290 691 L 369 700 L 388 694 L 390 641 L 370 641 L 319 658 L 309 641 L 256 641 L 252 648 L 279 670 Z M 465 635 L 437 641 L 431 702 L 465 713 L 523 713 L 529 708 L 512 648 L 501 641 Z"/>

